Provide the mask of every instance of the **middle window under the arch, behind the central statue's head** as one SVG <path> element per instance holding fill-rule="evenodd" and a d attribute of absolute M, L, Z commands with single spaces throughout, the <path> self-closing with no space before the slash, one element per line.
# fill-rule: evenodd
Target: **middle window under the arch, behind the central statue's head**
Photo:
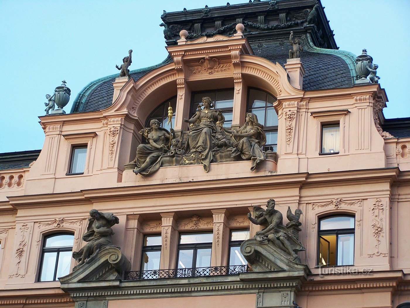
<path fill-rule="evenodd" d="M 223 127 L 230 127 L 232 125 L 233 114 L 233 89 L 208 90 L 192 93 L 189 117 L 195 114 L 198 104 L 202 102 L 203 97 L 210 97 L 212 99 L 215 104 L 215 109 L 220 109 L 225 117 Z"/>

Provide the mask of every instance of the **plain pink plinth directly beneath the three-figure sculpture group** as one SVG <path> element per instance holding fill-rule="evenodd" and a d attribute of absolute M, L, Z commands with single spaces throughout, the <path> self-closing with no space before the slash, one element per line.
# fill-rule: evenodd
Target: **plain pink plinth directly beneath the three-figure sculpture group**
<path fill-rule="evenodd" d="M 255 171 L 251 171 L 251 161 L 229 161 L 211 163 L 209 172 L 202 165 L 182 165 L 161 167 L 153 175 L 135 175 L 132 170 L 123 172 L 123 183 L 135 185 L 165 184 L 175 182 L 194 182 L 215 179 L 234 179 L 276 174 L 277 164 L 274 160 L 262 161 Z"/>

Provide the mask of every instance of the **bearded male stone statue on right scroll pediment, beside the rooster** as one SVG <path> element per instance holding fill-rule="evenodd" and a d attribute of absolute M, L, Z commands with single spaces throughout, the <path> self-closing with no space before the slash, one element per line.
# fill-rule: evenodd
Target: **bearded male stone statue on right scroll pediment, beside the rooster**
<path fill-rule="evenodd" d="M 289 259 L 295 262 L 301 262 L 298 251 L 305 251 L 300 241 L 283 225 L 283 216 L 280 211 L 275 209 L 275 200 L 269 199 L 266 205 L 266 210 L 262 207 L 254 206 L 255 218 L 252 218 L 251 213 L 248 213 L 248 219 L 255 225 L 263 225 L 261 231 L 257 231 L 255 239 L 260 244 L 271 243 L 286 255 Z"/>

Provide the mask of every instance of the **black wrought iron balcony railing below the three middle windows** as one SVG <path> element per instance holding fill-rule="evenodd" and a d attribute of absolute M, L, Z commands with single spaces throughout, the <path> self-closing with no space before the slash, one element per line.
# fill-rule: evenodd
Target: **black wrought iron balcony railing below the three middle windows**
<path fill-rule="evenodd" d="M 196 267 L 186 269 L 156 269 L 150 271 L 127 271 L 125 272 L 124 280 L 237 275 L 239 273 L 245 273 L 247 271 L 248 265 Z"/>

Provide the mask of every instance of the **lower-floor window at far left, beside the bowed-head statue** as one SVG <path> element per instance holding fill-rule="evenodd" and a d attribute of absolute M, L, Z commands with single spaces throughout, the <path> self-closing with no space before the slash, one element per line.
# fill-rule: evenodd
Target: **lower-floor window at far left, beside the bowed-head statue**
<path fill-rule="evenodd" d="M 70 272 L 73 234 L 52 234 L 44 238 L 39 281 L 55 281 Z"/>

